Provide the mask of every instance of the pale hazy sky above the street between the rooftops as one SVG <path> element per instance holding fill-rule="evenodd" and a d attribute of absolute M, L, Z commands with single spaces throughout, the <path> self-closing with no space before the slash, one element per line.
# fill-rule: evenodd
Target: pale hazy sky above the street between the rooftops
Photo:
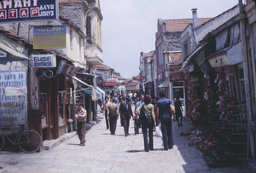
<path fill-rule="evenodd" d="M 103 63 L 124 78 L 137 76 L 140 52 L 154 50 L 157 19 L 215 17 L 238 0 L 100 0 Z"/>

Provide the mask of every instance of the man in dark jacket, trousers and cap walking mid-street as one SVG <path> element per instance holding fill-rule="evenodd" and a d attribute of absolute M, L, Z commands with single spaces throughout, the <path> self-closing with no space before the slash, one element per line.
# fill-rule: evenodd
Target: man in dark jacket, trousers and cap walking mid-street
<path fill-rule="evenodd" d="M 126 101 L 121 103 L 119 112 L 122 124 L 124 125 L 125 137 L 129 136 L 130 118 L 133 117 L 130 98 L 127 97 Z"/>

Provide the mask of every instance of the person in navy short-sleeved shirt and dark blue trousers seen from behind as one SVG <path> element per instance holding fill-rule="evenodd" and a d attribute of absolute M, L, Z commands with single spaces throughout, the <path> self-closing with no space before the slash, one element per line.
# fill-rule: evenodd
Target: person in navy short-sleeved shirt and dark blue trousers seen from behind
<path fill-rule="evenodd" d="M 174 115 L 175 112 L 172 107 L 172 101 L 166 98 L 165 91 L 160 91 L 160 100 L 157 101 L 157 112 L 160 118 L 164 148 L 165 150 L 172 149 L 172 114 Z"/>

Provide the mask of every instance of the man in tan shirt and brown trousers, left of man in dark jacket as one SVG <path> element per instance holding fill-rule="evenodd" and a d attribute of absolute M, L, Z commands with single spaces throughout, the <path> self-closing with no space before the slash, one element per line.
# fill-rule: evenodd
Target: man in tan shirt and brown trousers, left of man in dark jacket
<path fill-rule="evenodd" d="M 117 101 L 113 99 L 113 102 L 108 105 L 108 119 L 109 119 L 111 135 L 115 135 L 116 122 L 118 118 L 119 118 L 119 106 L 117 105 Z"/>

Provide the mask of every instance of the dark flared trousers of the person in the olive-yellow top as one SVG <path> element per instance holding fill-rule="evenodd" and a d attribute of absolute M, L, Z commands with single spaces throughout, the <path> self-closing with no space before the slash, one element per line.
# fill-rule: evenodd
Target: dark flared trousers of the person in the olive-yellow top
<path fill-rule="evenodd" d="M 143 126 L 143 140 L 144 140 L 144 149 L 146 152 L 153 150 L 153 124 L 148 124 L 147 122 L 142 123 Z M 149 143 L 148 143 L 149 136 Z"/>

